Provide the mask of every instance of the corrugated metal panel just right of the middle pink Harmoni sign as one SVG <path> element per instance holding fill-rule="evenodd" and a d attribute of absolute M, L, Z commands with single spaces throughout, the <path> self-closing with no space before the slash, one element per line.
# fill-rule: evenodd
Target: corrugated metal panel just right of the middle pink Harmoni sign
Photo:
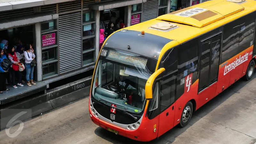
<path fill-rule="evenodd" d="M 147 0 L 142 6 L 142 22 L 151 20 L 157 17 L 158 0 Z"/>

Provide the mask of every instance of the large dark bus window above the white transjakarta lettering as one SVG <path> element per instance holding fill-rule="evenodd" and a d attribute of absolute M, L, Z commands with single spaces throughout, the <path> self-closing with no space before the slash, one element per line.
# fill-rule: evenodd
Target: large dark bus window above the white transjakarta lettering
<path fill-rule="evenodd" d="M 255 16 L 251 13 L 224 25 L 222 63 L 252 45 L 254 20 Z"/>

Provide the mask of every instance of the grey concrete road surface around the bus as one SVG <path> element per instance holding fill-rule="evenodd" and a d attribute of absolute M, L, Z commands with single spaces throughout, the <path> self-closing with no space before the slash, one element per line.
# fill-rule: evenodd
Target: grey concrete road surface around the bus
<path fill-rule="evenodd" d="M 150 144 L 254 144 L 256 142 L 256 74 L 237 81 L 194 113 L 190 124 L 175 127 Z M 19 128 L 16 125 L 10 133 Z M 13 144 L 121 144 L 142 143 L 116 136 L 93 124 L 88 98 L 24 122 L 21 133 L 10 138 L 0 132 L 0 143 Z"/>

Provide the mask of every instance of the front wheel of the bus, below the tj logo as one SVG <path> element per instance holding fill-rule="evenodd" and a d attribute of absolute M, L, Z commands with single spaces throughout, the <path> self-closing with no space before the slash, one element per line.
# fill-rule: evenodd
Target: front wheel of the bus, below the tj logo
<path fill-rule="evenodd" d="M 193 113 L 193 104 L 191 101 L 188 101 L 180 117 L 180 127 L 185 127 L 186 125 L 188 125 L 191 119 L 192 113 Z"/>

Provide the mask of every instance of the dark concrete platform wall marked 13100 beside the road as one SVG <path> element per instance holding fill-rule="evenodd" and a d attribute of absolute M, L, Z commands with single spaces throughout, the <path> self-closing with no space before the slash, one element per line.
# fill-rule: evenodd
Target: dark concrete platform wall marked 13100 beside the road
<path fill-rule="evenodd" d="M 46 94 L 38 95 L 28 100 L 23 100 L 15 104 L 11 104 L 7 108 L 0 110 L 0 131 L 4 130 L 7 123 L 13 116 L 27 112 L 26 115 L 18 117 L 14 121 L 25 122 L 33 117 L 39 116 L 45 112 L 59 108 L 68 103 L 89 96 L 92 76 L 84 79 L 62 85 L 47 91 Z"/>

